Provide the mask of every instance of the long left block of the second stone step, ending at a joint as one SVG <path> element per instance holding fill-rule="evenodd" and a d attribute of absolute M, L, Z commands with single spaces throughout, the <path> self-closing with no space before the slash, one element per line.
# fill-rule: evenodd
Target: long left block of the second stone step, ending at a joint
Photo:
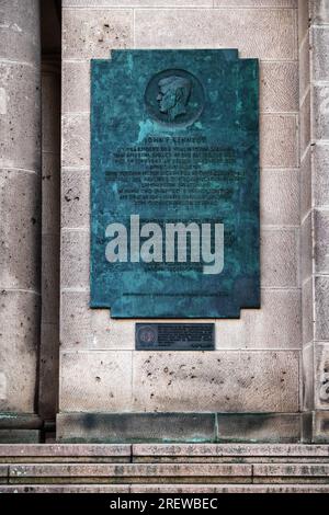
<path fill-rule="evenodd" d="M 5 466 L 2 466 L 4 469 Z M 4 477 L 5 471 L 2 470 Z M 9 465 L 9 483 L 80 482 L 251 482 L 252 466 L 241 464 L 29 464 Z"/>

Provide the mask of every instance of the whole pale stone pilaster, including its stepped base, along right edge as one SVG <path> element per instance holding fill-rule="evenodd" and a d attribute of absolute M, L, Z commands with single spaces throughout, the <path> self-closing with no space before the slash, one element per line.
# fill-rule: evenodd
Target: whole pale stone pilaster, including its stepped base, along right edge
<path fill-rule="evenodd" d="M 329 2 L 300 0 L 303 409 L 329 440 Z"/>

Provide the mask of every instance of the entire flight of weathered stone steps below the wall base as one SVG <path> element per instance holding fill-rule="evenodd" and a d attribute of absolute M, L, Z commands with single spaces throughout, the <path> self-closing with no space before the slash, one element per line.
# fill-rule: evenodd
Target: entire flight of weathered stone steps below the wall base
<path fill-rule="evenodd" d="M 329 445 L 0 445 L 0 492 L 329 492 Z"/>

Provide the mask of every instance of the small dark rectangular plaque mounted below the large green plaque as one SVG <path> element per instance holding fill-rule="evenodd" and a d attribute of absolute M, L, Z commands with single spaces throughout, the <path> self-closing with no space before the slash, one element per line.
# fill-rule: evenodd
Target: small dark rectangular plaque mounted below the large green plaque
<path fill-rule="evenodd" d="M 213 351 L 214 323 L 136 323 L 137 351 Z"/>

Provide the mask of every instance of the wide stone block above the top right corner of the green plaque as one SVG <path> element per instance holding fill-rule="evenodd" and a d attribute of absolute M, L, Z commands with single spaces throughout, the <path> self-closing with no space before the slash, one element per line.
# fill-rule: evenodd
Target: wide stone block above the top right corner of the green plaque
<path fill-rule="evenodd" d="M 239 48 L 240 57 L 295 59 L 295 12 L 288 9 L 151 9 L 135 12 L 136 48 Z M 240 35 L 243 33 L 243 37 Z"/>

